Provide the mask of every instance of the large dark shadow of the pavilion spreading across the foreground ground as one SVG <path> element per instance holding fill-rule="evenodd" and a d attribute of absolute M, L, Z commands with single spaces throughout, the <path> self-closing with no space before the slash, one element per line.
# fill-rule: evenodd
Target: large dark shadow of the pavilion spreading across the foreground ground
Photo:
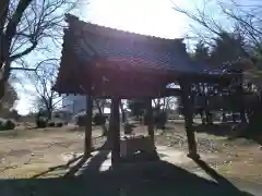
<path fill-rule="evenodd" d="M 202 179 L 166 161 L 150 161 L 139 164 L 126 163 L 107 171 L 99 171 L 108 151 L 90 158 L 82 157 L 75 167 L 62 177 L 1 180 L 4 196 L 251 196 L 240 192 L 204 161 L 195 162 L 216 182 Z M 74 175 L 81 168 L 80 175 Z"/>

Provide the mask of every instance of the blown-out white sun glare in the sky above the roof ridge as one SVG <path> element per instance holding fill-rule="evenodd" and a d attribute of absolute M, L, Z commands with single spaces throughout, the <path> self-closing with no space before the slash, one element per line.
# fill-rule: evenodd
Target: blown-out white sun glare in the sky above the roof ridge
<path fill-rule="evenodd" d="M 83 20 L 99 25 L 166 38 L 186 33 L 186 17 L 172 10 L 170 0 L 94 0 L 87 7 Z"/>

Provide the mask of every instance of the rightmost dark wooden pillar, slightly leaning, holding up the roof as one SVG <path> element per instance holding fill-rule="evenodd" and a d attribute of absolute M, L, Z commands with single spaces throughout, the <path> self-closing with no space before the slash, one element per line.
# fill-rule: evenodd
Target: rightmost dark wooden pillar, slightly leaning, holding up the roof
<path fill-rule="evenodd" d="M 182 103 L 183 103 L 183 114 L 184 114 L 184 126 L 187 132 L 189 154 L 188 157 L 191 159 L 199 159 L 196 150 L 196 142 L 193 131 L 193 105 L 190 100 L 191 95 L 191 84 L 187 81 L 180 83 L 182 91 Z"/>

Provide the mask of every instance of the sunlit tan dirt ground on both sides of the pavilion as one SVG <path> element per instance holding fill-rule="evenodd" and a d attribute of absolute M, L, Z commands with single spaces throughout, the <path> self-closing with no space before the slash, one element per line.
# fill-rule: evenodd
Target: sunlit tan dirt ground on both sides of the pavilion
<path fill-rule="evenodd" d="M 138 126 L 136 134 L 145 134 L 146 127 Z M 93 130 L 93 145 L 105 142 L 100 127 Z M 70 158 L 83 152 L 83 131 L 69 127 L 7 131 L 0 133 L 0 179 L 27 179 L 52 167 L 64 164 Z M 260 145 L 246 139 L 228 140 L 224 136 L 196 133 L 201 156 L 225 176 L 262 184 L 262 156 Z M 169 123 L 165 133 L 156 132 L 156 145 L 170 151 L 187 154 L 186 132 L 182 123 Z M 176 161 L 175 161 L 176 163 Z M 195 168 L 191 162 L 181 167 Z M 64 169 L 40 177 L 61 176 Z"/>

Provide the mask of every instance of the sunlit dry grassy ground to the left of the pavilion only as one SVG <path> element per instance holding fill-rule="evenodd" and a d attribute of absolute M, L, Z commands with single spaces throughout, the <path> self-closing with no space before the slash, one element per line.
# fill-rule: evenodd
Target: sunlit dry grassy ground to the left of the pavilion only
<path fill-rule="evenodd" d="M 94 146 L 105 138 L 94 130 Z M 67 154 L 83 152 L 82 131 L 67 128 L 16 130 L 0 133 L 0 177 L 29 177 L 66 163 Z"/>

